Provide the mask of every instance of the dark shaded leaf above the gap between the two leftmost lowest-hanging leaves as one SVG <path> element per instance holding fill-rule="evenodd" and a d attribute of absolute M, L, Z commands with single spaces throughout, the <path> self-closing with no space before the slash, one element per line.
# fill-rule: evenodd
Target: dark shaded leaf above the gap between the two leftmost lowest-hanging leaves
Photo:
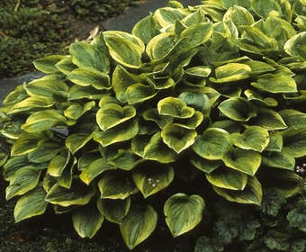
<path fill-rule="evenodd" d="M 130 198 L 125 200 L 98 199 L 96 206 L 106 220 L 120 224 L 130 210 Z"/>

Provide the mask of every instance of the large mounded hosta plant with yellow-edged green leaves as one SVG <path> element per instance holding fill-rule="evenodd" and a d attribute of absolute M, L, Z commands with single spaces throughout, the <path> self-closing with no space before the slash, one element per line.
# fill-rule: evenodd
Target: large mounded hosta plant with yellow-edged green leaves
<path fill-rule="evenodd" d="M 46 76 L 1 109 L 15 220 L 69 211 L 87 238 L 108 220 L 131 249 L 162 218 L 174 237 L 197 226 L 211 188 L 257 205 L 271 188 L 297 193 L 304 10 L 302 0 L 169 1 L 131 34 L 104 31 L 36 60 Z"/>

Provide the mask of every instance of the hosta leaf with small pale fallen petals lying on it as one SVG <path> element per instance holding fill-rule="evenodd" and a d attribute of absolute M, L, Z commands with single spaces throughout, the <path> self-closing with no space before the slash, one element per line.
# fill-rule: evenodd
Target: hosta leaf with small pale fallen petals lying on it
<path fill-rule="evenodd" d="M 132 172 L 134 183 L 145 198 L 166 188 L 173 181 L 174 175 L 173 167 L 148 162 Z"/>

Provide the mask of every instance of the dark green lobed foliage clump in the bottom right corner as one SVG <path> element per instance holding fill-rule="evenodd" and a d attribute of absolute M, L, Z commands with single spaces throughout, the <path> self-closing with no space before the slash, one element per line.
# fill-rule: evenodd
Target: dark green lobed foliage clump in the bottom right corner
<path fill-rule="evenodd" d="M 256 210 L 217 202 L 211 209 L 216 221 L 198 238 L 194 251 L 305 251 L 305 192 L 288 200 L 268 190 L 263 205 L 264 210 Z"/>

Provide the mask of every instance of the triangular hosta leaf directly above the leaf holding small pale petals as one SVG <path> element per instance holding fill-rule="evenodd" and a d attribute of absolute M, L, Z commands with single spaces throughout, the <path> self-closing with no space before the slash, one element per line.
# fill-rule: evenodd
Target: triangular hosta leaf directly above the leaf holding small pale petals
<path fill-rule="evenodd" d="M 166 164 L 175 162 L 177 154 L 171 148 L 168 148 L 163 142 L 160 132 L 157 132 L 149 140 L 143 150 L 143 157 L 148 160 L 156 160 L 159 163 Z"/>

